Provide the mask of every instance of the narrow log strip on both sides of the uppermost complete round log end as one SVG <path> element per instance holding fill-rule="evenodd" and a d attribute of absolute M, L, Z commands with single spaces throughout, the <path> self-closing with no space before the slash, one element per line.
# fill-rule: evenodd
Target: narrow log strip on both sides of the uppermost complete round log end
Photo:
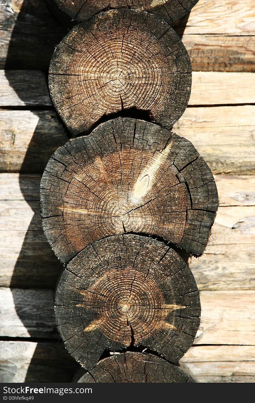
<path fill-rule="evenodd" d="M 0 106 L 52 106 L 46 77 L 39 70 L 0 70 L 0 87 Z M 254 102 L 253 73 L 193 71 L 189 106 Z"/>

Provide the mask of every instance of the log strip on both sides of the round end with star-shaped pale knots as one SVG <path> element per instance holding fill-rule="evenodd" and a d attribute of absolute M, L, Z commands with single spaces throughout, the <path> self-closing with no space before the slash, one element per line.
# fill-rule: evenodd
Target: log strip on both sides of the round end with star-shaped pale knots
<path fill-rule="evenodd" d="M 195 345 L 255 345 L 255 291 L 202 291 L 200 298 Z M 53 291 L 1 288 L 0 301 L 0 337 L 58 338 Z"/>

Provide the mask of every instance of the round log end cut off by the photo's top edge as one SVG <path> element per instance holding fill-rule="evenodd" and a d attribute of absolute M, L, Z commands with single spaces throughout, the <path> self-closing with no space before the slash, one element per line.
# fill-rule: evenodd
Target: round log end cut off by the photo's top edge
<path fill-rule="evenodd" d="M 77 21 L 87 20 L 100 11 L 110 8 L 145 10 L 172 23 L 187 14 L 198 0 L 54 0 L 59 8 Z"/>

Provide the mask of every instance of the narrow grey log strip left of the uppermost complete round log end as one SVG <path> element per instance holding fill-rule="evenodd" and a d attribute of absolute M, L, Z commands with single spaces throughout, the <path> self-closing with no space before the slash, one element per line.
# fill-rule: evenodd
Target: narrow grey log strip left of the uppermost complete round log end
<path fill-rule="evenodd" d="M 44 73 L 0 70 L 0 106 L 52 106 Z"/>

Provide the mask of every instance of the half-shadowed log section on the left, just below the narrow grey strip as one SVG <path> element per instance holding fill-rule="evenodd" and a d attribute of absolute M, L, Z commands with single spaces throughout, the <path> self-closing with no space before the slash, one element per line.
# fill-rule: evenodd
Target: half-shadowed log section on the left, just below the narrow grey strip
<path fill-rule="evenodd" d="M 53 111 L 0 110 L 0 172 L 43 172 L 68 137 Z"/>

